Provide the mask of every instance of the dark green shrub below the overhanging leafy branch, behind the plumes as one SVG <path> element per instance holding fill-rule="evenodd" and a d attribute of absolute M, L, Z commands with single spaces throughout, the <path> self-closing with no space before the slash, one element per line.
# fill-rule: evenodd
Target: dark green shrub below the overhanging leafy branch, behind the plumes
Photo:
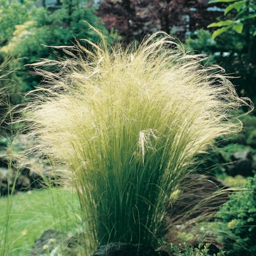
<path fill-rule="evenodd" d="M 246 35 L 246 33 L 248 34 Z M 220 64 L 234 79 L 239 95 L 250 95 L 255 103 L 255 38 L 249 38 L 249 30 L 241 35 L 229 30 L 221 34 L 215 40 L 211 39 L 211 33 L 207 30 L 197 30 L 186 40 L 188 49 L 195 53 L 211 56 L 211 64 Z M 227 43 L 228 42 L 228 43 Z"/>

